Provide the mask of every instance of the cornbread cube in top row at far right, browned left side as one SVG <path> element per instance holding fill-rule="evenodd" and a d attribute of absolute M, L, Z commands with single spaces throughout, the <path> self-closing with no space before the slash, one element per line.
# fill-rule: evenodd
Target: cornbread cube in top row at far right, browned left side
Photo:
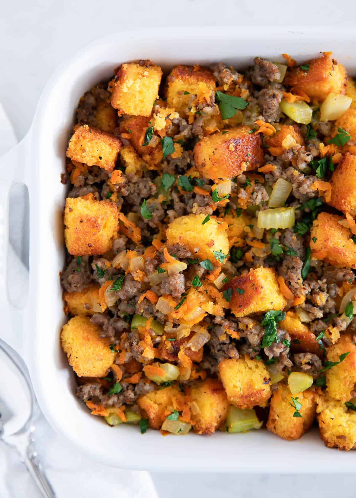
<path fill-rule="evenodd" d="M 330 93 L 346 93 L 346 69 L 325 52 L 322 57 L 308 61 L 305 71 L 295 67 L 287 71 L 283 84 L 293 87 L 294 92 L 305 92 L 311 99 L 324 101 Z"/>

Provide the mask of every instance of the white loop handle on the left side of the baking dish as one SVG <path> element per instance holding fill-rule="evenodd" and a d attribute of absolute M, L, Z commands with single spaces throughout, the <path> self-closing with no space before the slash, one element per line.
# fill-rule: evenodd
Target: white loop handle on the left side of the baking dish
<path fill-rule="evenodd" d="M 12 187 L 23 183 L 29 189 L 25 178 L 25 159 L 28 135 L 15 147 L 0 157 L 0 339 L 23 356 L 24 324 L 27 308 L 17 308 L 9 299 L 8 291 L 8 249 L 9 249 L 9 196 Z"/>

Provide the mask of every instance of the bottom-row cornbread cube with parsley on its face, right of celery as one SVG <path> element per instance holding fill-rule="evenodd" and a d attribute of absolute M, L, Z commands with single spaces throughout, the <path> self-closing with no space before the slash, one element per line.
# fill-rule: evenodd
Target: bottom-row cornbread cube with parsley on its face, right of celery
<path fill-rule="evenodd" d="M 296 410 L 289 404 L 293 404 L 292 396 L 294 399 L 298 398 L 297 401 L 302 405 L 299 410 L 302 417 L 293 416 Z M 310 429 L 315 415 L 316 400 L 311 389 L 292 394 L 287 385 L 279 383 L 272 394 L 267 429 L 289 441 L 299 439 Z"/>

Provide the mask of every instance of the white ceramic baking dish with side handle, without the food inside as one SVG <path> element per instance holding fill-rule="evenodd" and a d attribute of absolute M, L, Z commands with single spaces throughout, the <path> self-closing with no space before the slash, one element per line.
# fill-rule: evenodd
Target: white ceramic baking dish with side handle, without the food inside
<path fill-rule="evenodd" d="M 356 452 L 327 449 L 316 430 L 295 442 L 265 430 L 164 438 L 153 430 L 141 435 L 137 426 L 113 429 L 90 415 L 75 396 L 74 375 L 60 349 L 59 333 L 65 316 L 58 271 L 64 264 L 62 209 L 66 193 L 60 174 L 77 102 L 94 83 L 109 77 L 121 62 L 135 59 L 152 59 L 164 69 L 177 63 L 220 60 L 243 68 L 256 55 L 278 62 L 284 52 L 302 61 L 316 57 L 321 50 L 333 50 L 355 75 L 355 38 L 354 30 L 344 28 L 288 31 L 270 26 L 124 32 L 92 43 L 50 79 L 30 131 L 0 161 L 0 222 L 4 235 L 0 241 L 0 335 L 26 359 L 41 408 L 63 437 L 103 463 L 133 469 L 354 471 Z M 6 300 L 8 190 L 18 181 L 27 184 L 30 196 L 30 296 L 24 311 L 14 309 Z"/>

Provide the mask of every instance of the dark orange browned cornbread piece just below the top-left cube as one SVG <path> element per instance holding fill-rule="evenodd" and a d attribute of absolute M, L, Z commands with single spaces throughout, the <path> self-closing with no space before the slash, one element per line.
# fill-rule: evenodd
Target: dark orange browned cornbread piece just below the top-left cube
<path fill-rule="evenodd" d="M 121 133 L 126 133 L 127 139 L 130 140 L 130 143 L 145 162 L 157 164 L 163 159 L 162 145 L 159 137 L 154 134 L 154 138 L 151 139 L 152 143 L 157 143 L 155 147 L 150 144 L 143 145 L 146 130 L 150 127 L 150 119 L 143 116 L 133 116 L 121 122 L 120 131 Z M 154 142 L 155 139 L 156 142 Z"/>

